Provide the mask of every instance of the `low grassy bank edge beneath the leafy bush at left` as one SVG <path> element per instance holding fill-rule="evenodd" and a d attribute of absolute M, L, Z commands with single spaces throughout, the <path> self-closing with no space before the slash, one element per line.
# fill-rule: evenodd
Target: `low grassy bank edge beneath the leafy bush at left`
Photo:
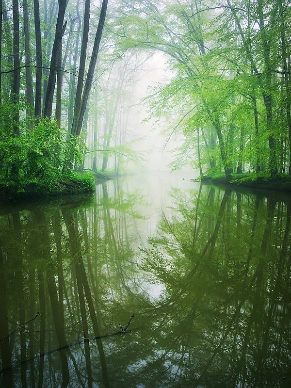
<path fill-rule="evenodd" d="M 98 177 L 100 179 L 100 177 Z M 17 202 L 49 196 L 94 192 L 95 178 L 91 173 L 75 174 L 51 181 L 0 181 L 0 203 Z"/>

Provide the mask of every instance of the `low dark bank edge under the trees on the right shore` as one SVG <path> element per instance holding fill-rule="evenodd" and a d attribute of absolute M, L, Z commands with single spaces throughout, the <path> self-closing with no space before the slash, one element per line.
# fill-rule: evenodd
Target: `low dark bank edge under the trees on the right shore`
<path fill-rule="evenodd" d="M 223 176 L 203 176 L 201 182 L 291 193 L 291 177 L 283 174 L 278 174 L 273 177 L 268 175 L 255 176 L 254 174 L 250 174 L 242 176 L 233 174 L 230 180 Z"/>

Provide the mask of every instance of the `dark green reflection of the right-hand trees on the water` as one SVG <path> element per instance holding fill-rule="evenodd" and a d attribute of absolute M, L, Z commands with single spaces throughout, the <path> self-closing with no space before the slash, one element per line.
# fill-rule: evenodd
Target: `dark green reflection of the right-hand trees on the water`
<path fill-rule="evenodd" d="M 275 212 L 272 200 L 257 200 L 251 206 L 252 197 L 225 193 L 222 198 L 218 192 L 215 198 L 210 192 L 202 202 L 201 197 L 194 201 L 174 192 L 175 218 L 163 219 L 161 238 L 150 239 L 153 248 L 142 249 L 142 268 L 166 288 L 156 319 L 167 333 L 164 341 L 173 339 L 178 352 L 169 366 L 175 365 L 181 374 L 178 386 L 189 384 L 183 374 L 191 365 L 194 387 L 253 387 L 257 379 L 262 386 L 275 387 L 275 368 L 270 365 L 278 368 L 279 357 L 280 378 L 285 376 L 280 387 L 287 387 L 290 340 L 282 327 L 290 325 L 290 314 L 282 296 L 288 290 L 283 279 L 290 263 L 274 269 L 280 264 L 278 254 L 286 257 L 290 246 L 290 210 L 282 202 Z M 277 253 L 271 233 L 275 218 L 286 225 L 274 236 Z M 281 296 L 279 290 L 284 290 Z"/>

